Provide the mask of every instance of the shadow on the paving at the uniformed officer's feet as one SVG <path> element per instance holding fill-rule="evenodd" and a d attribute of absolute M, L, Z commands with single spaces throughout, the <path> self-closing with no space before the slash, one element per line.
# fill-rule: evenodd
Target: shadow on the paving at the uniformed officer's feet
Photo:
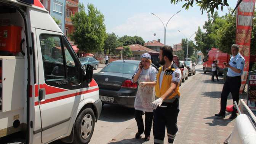
<path fill-rule="evenodd" d="M 227 116 L 227 115 L 229 115 L 229 114 L 231 114 L 231 113 L 227 113 L 226 114 L 226 119 L 224 119 L 224 118 L 218 118 L 218 117 L 215 117 L 215 116 L 211 116 L 211 117 L 206 117 L 206 118 L 204 118 L 204 119 L 213 119 L 213 121 L 211 122 L 211 123 L 205 123 L 205 124 L 207 124 L 207 125 L 209 125 L 209 126 L 216 126 L 216 125 L 219 125 L 219 126 L 227 126 L 230 122 L 232 122 L 232 120 L 233 119 L 229 119 L 229 116 Z"/>

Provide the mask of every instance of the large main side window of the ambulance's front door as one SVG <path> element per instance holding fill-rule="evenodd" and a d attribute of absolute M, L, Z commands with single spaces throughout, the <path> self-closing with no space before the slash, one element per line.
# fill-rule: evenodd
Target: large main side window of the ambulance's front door
<path fill-rule="evenodd" d="M 40 35 L 40 45 L 45 81 L 64 79 L 65 69 L 61 50 L 61 37 Z"/>

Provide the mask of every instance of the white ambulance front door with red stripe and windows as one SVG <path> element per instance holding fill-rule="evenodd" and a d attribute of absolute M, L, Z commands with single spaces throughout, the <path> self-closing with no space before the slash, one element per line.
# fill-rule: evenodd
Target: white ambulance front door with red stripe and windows
<path fill-rule="evenodd" d="M 83 100 L 82 67 L 63 34 L 36 29 L 42 143 L 67 134 L 72 113 Z"/>

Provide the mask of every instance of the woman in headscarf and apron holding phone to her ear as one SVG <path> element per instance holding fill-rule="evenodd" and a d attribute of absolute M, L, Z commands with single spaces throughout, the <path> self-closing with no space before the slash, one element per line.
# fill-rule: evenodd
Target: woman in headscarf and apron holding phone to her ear
<path fill-rule="evenodd" d="M 141 134 L 144 132 L 145 141 L 150 140 L 150 131 L 152 128 L 153 120 L 153 109 L 152 102 L 155 98 L 155 89 L 156 85 L 156 73 L 157 69 L 151 66 L 151 56 L 149 53 L 144 53 L 141 56 L 141 62 L 139 67 L 136 70 L 136 73 L 133 76 L 133 82 L 138 82 L 138 91 L 134 101 L 135 109 L 135 120 L 138 126 L 138 132 L 135 137 L 137 139 L 141 138 Z M 145 112 L 145 130 L 142 115 Z"/>

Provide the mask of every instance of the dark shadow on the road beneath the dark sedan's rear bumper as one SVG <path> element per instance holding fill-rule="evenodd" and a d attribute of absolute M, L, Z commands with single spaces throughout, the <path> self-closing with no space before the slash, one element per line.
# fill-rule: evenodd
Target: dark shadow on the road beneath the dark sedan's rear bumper
<path fill-rule="evenodd" d="M 134 108 L 104 104 L 99 120 L 106 122 L 125 122 L 134 118 Z"/>

